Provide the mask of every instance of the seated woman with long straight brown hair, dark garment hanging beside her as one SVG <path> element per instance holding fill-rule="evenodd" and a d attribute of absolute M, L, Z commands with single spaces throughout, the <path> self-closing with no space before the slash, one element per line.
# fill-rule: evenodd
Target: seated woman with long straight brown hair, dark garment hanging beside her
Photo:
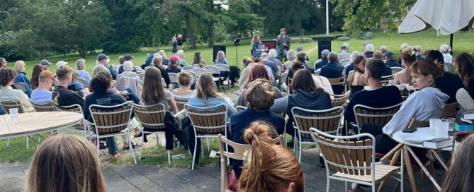
<path fill-rule="evenodd" d="M 157 80 L 160 79 L 160 80 Z M 166 149 L 173 150 L 173 136 L 175 136 L 180 143 L 183 143 L 183 133 L 179 128 L 179 124 L 174 120 L 171 113 L 176 113 L 176 102 L 174 102 L 173 95 L 162 85 L 162 76 L 156 67 L 149 67 L 145 71 L 145 80 L 143 83 L 142 103 L 145 105 L 154 105 L 161 103 L 166 109 L 164 116 Z M 147 142 L 147 138 L 143 138 Z"/>

